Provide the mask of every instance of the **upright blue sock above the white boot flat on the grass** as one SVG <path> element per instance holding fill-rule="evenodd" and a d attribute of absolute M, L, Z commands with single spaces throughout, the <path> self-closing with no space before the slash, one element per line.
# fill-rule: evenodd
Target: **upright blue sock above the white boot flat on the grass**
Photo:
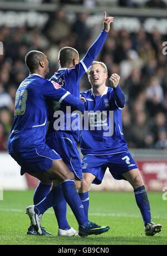
<path fill-rule="evenodd" d="M 59 185 L 54 188 L 55 197 L 56 197 L 56 205 L 53 206 L 53 210 L 55 211 L 57 223 L 59 229 L 67 230 L 70 229 L 70 225 L 67 222 L 66 214 L 67 214 L 67 202 L 63 195 L 62 186 Z"/>

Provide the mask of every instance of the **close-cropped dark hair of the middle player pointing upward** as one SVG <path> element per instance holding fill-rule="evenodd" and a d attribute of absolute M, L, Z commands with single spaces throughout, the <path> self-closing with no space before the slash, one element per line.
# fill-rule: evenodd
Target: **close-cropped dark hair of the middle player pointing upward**
<path fill-rule="evenodd" d="M 63 47 L 58 53 L 61 67 L 66 67 L 67 65 L 70 65 L 72 63 L 72 60 L 76 58 L 77 54 L 78 52 L 74 48 Z"/>

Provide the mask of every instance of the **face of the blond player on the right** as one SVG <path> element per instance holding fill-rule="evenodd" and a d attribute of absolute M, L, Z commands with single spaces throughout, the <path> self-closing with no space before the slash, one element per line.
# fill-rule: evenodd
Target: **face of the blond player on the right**
<path fill-rule="evenodd" d="M 95 64 L 89 70 L 88 77 L 92 86 L 100 87 L 106 83 L 107 73 L 105 73 L 105 69 L 100 64 Z"/>

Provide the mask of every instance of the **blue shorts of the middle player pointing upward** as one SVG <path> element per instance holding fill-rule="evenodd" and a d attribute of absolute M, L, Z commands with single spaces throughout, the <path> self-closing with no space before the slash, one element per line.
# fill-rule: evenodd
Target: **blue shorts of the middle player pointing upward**
<path fill-rule="evenodd" d="M 73 172 L 76 179 L 82 179 L 81 157 L 77 142 L 68 132 L 55 131 L 47 135 L 46 143 L 61 155 L 63 162 Z"/>

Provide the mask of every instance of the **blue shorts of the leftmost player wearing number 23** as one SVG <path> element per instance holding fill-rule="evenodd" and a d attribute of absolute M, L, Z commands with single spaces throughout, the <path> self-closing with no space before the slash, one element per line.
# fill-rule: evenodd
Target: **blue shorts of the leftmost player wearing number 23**
<path fill-rule="evenodd" d="M 21 175 L 24 173 L 45 173 L 52 167 L 53 160 L 62 159 L 55 150 L 46 144 L 23 151 L 23 153 L 10 153 L 11 157 L 21 166 Z"/>

